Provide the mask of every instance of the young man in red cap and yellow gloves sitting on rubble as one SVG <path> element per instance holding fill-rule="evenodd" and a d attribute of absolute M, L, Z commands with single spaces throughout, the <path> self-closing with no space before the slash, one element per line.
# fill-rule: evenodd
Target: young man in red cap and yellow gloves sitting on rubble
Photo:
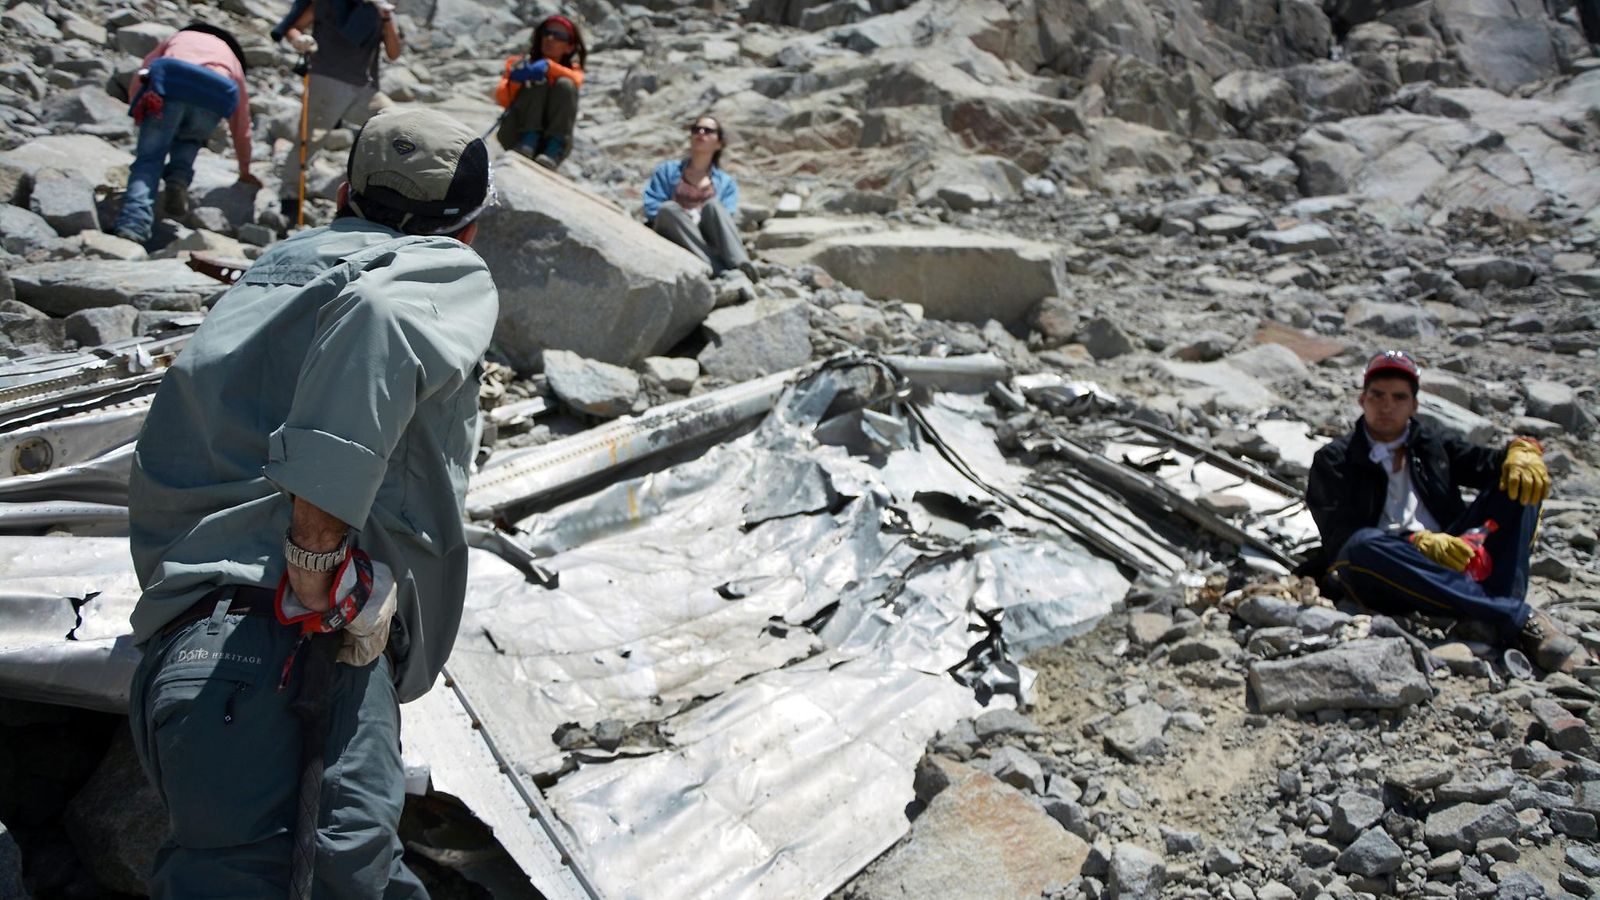
<path fill-rule="evenodd" d="M 1523 601 L 1550 493 L 1544 448 L 1531 437 L 1494 450 L 1437 434 L 1414 418 L 1419 386 L 1405 352 L 1366 364 L 1362 418 L 1312 463 L 1306 503 L 1322 549 L 1301 573 L 1326 573 L 1325 589 L 1366 607 L 1482 621 L 1546 669 L 1571 671 L 1582 647 Z M 1461 488 L 1477 500 L 1464 503 Z"/>

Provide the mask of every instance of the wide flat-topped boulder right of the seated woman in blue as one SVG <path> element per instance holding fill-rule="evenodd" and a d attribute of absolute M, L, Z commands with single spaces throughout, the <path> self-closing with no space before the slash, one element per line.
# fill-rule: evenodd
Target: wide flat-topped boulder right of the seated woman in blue
<path fill-rule="evenodd" d="M 1040 299 L 1061 296 L 1066 277 L 1050 243 L 954 227 L 832 237 L 771 256 L 813 263 L 870 296 L 963 322 L 1021 322 Z"/>

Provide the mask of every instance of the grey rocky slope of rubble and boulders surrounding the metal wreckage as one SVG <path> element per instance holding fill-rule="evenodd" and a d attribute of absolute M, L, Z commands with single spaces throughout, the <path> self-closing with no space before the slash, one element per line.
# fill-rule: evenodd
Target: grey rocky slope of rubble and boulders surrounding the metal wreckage
<path fill-rule="evenodd" d="M 480 128 L 498 114 L 501 59 L 552 11 L 398 6 L 408 46 L 384 67 L 387 94 Z M 1262 423 L 1344 431 L 1360 362 L 1402 346 L 1427 368 L 1435 421 L 1480 440 L 1546 440 L 1557 492 L 1531 599 L 1600 647 L 1600 61 L 1563 2 L 579 0 L 565 11 L 592 51 L 562 171 L 582 191 L 504 167 L 494 221 L 507 237 L 485 248 L 507 306 L 496 356 L 515 370 L 501 389 L 562 412 L 507 418 L 502 445 L 840 349 L 994 351 L 1021 373 L 1093 380 L 1125 415 L 1302 484 L 1304 453 Z M 272 165 L 293 147 L 299 80 L 266 37 L 278 14 L 266 0 L 30 0 L 0 13 L 0 349 L 158 330 L 221 288 L 184 266 L 190 253 L 250 259 L 282 232 Z M 101 231 L 133 146 L 106 85 L 195 16 L 246 46 L 267 187 L 234 186 L 232 162 L 202 154 L 194 210 L 138 247 Z M 731 130 L 757 283 L 707 282 L 683 261 L 659 263 L 670 279 L 638 271 L 654 256 L 634 248 L 653 239 L 624 219 L 706 110 Z M 219 133 L 211 149 L 226 146 Z M 333 152 L 312 168 L 314 219 L 331 215 L 341 163 Z M 605 200 L 622 213 L 602 218 Z M 523 242 L 554 231 L 568 243 Z M 902 231 L 914 237 L 885 237 Z M 550 290 L 544 261 L 574 248 L 603 263 Z M 592 335 L 595 296 L 618 304 L 616 322 L 670 303 L 672 323 L 558 348 L 584 356 L 542 352 L 563 322 Z M 1006 818 L 1022 831 L 1006 834 L 1053 855 L 1022 866 L 1008 895 L 1592 895 L 1600 673 L 1507 671 L 1438 623 L 1411 628 L 1430 655 L 1382 650 L 1403 641 L 1392 623 L 1318 605 L 1306 585 L 1245 573 L 1219 585 L 1226 567 L 1202 562 L 1189 593 L 1146 586 L 1096 631 L 1032 657 L 1037 705 L 934 741 L 920 780 L 931 817 L 845 892 L 902 895 L 906 873 L 936 884 L 933 863 L 906 854 L 954 846 L 938 817 L 970 823 L 963 801 L 1022 798 Z M 1262 685 L 1246 684 L 1267 660 L 1395 649 L 1392 665 L 1430 679 L 1403 697 L 1270 713 Z M 1043 826 L 1048 839 L 1027 831 Z M 995 841 L 986 858 L 1008 857 Z M 82 887 L 35 890 L 69 884 Z"/>

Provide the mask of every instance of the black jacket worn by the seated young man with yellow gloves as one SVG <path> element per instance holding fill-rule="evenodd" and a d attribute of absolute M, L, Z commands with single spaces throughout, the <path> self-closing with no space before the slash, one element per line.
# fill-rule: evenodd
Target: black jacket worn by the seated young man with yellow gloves
<path fill-rule="evenodd" d="M 1454 524 L 1467 508 L 1461 500 L 1461 488 L 1496 487 L 1501 463 L 1506 461 L 1506 450 L 1435 434 L 1418 420 L 1411 420 L 1405 447 L 1411 487 L 1442 528 Z M 1366 440 L 1363 420 L 1355 420 L 1350 434 L 1317 450 L 1317 458 L 1310 464 L 1306 506 L 1317 520 L 1322 548 L 1296 570 L 1299 575 L 1322 578 L 1350 535 L 1360 528 L 1376 527 L 1382 519 L 1389 476 L 1382 466 L 1371 461 L 1370 453 L 1371 442 Z"/>

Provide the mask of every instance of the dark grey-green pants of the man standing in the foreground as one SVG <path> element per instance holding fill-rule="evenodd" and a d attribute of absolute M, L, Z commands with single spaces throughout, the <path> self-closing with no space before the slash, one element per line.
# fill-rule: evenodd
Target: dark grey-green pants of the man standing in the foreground
<path fill-rule="evenodd" d="M 270 615 L 219 610 L 146 645 L 130 725 L 171 825 L 150 897 L 288 895 L 301 745 L 290 703 L 304 658 L 278 682 L 296 634 Z M 400 706 L 386 657 L 334 666 L 323 753 L 314 895 L 426 898 L 400 858 Z"/>

